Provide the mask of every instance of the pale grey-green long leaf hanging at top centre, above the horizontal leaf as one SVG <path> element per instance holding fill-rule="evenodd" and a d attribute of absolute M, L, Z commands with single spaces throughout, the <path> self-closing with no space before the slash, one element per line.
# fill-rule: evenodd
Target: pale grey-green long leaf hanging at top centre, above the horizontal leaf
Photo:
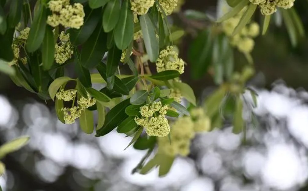
<path fill-rule="evenodd" d="M 151 22 L 148 14 L 141 15 L 140 26 L 144 39 L 145 49 L 151 62 L 156 62 L 159 55 L 159 46 L 155 33 L 155 26 Z"/>

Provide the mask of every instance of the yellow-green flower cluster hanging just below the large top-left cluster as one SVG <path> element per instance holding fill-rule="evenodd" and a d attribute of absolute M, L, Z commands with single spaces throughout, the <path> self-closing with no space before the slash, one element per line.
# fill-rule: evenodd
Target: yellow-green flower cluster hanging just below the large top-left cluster
<path fill-rule="evenodd" d="M 74 50 L 71 42 L 69 41 L 70 34 L 65 34 L 62 31 L 59 39 L 61 42 L 55 45 L 55 61 L 58 64 L 63 64 L 72 57 Z"/>

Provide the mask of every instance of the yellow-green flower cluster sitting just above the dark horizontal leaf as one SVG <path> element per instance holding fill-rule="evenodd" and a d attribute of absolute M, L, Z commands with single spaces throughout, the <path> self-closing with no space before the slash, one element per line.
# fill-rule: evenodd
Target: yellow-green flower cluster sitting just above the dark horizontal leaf
<path fill-rule="evenodd" d="M 167 46 L 165 50 L 160 51 L 159 58 L 156 61 L 157 72 L 165 70 L 176 70 L 180 74 L 184 73 L 184 61 L 179 58 L 173 46 Z"/>

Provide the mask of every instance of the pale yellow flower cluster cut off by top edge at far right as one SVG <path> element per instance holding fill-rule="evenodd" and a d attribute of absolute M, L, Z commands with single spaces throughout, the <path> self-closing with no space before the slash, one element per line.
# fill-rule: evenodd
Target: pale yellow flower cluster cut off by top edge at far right
<path fill-rule="evenodd" d="M 295 0 L 249 0 L 251 3 L 258 5 L 263 15 L 271 15 L 277 11 L 277 7 L 290 9 L 293 7 Z"/>

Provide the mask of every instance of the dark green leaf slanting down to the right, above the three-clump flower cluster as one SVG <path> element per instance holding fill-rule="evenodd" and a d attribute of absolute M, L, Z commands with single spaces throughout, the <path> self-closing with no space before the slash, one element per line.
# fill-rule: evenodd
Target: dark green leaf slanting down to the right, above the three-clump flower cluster
<path fill-rule="evenodd" d="M 89 87 L 92 86 L 90 72 L 89 72 L 89 70 L 87 70 L 83 66 L 81 66 L 79 53 L 78 53 L 78 50 L 76 48 L 75 48 L 75 51 L 74 51 L 74 55 L 75 55 L 75 72 L 78 75 L 78 79 L 80 80 L 81 84 L 84 87 L 89 88 Z"/>

